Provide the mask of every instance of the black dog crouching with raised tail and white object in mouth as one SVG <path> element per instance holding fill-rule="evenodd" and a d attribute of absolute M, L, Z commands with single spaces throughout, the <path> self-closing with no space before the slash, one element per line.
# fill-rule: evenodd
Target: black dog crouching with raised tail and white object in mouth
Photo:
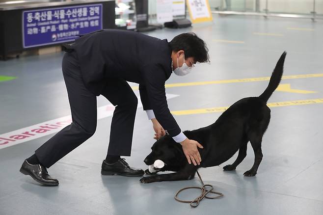
<path fill-rule="evenodd" d="M 223 167 L 226 171 L 236 169 L 246 157 L 247 143 L 250 141 L 255 153 L 255 161 L 244 176 L 254 176 L 263 158 L 261 142 L 270 120 L 270 109 L 266 103 L 278 87 L 283 74 L 286 52 L 279 58 L 270 77 L 269 85 L 259 97 L 244 98 L 222 113 L 214 124 L 194 131 L 185 131 L 189 138 L 198 141 L 204 149 L 198 149 L 202 158 L 200 165 L 188 164 L 182 146 L 169 135 L 163 136 L 152 147 L 152 152 L 144 162 L 153 164 L 156 160 L 165 163 L 158 171 L 174 171 L 170 174 L 156 174 L 140 179 L 141 183 L 161 181 L 190 180 L 200 167 L 219 165 L 229 160 L 238 150 L 239 155 L 231 165 Z M 146 170 L 146 173 L 148 171 Z"/>

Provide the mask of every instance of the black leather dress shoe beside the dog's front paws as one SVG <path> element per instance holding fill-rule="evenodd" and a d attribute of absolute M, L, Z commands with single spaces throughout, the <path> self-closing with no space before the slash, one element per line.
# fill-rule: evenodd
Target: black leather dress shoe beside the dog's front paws
<path fill-rule="evenodd" d="M 122 175 L 122 176 L 142 176 L 144 171 L 142 169 L 135 169 L 129 166 L 124 158 L 120 158 L 115 163 L 102 162 L 102 175 Z"/>

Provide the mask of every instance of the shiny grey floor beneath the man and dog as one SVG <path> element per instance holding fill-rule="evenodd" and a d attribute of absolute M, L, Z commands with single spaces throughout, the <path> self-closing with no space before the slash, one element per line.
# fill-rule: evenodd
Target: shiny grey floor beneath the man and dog
<path fill-rule="evenodd" d="M 215 16 L 213 24 L 195 25 L 191 29 L 162 29 L 149 34 L 170 40 L 184 31 L 194 31 L 206 40 L 211 64 L 198 65 L 187 77 L 172 76 L 167 83 L 268 77 L 285 50 L 288 55 L 284 75 L 323 73 L 322 21 Z M 0 136 L 70 114 L 61 58 L 59 53 L 0 62 L 1 76 L 17 77 L 0 82 Z M 276 91 L 269 102 L 323 98 L 322 81 L 323 77 L 283 80 L 282 83 L 291 84 L 293 89 L 317 93 Z M 209 84 L 167 88 L 166 92 L 180 95 L 168 101 L 171 110 L 213 108 L 259 95 L 267 84 L 268 81 Z M 99 97 L 98 107 L 107 104 L 108 101 Z M 196 209 L 176 202 L 173 195 L 180 188 L 199 186 L 197 178 L 143 185 L 139 184 L 139 178 L 101 176 L 111 117 L 99 120 L 93 137 L 49 169 L 51 175 L 59 179 L 58 187 L 39 186 L 19 173 L 23 160 L 53 134 L 10 146 L 0 150 L 0 215 L 322 215 L 322 110 L 323 104 L 271 108 L 271 122 L 263 138 L 264 159 L 257 176 L 243 177 L 243 172 L 253 163 L 251 147 L 235 172 L 223 172 L 224 164 L 201 169 L 204 181 L 213 184 L 224 197 L 203 200 Z M 209 125 L 219 115 L 215 112 L 175 118 L 183 130 L 189 130 Z M 151 123 L 139 109 L 132 156 L 127 158 L 131 165 L 145 168 L 142 161 L 150 152 L 152 137 Z M 181 196 L 192 199 L 196 194 L 188 191 Z"/>

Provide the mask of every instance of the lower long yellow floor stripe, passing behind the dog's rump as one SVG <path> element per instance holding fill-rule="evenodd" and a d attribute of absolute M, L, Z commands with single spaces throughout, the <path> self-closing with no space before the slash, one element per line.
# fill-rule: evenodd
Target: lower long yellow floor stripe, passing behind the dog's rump
<path fill-rule="evenodd" d="M 322 99 L 308 99 L 308 100 L 296 100 L 287 102 L 275 102 L 268 103 L 268 107 L 284 107 L 284 106 L 296 106 L 296 105 L 310 105 L 310 104 L 321 104 Z M 214 113 L 214 112 L 224 112 L 229 107 L 219 107 L 219 108 L 203 108 L 203 109 L 191 109 L 191 110 L 176 110 L 171 111 L 173 115 L 189 115 L 189 114 L 200 114 L 200 113 Z"/>

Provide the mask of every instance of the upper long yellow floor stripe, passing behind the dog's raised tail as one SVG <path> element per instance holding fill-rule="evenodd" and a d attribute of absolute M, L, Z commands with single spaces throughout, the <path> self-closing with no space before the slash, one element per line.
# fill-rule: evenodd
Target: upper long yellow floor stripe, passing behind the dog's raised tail
<path fill-rule="evenodd" d="M 305 78 L 319 78 L 319 77 L 323 77 L 323 73 L 283 76 L 282 79 L 288 80 L 288 79 L 305 79 Z M 179 86 L 197 86 L 197 85 L 208 85 L 208 84 L 219 84 L 219 83 L 239 83 L 239 82 L 269 81 L 269 80 L 270 80 L 270 77 L 231 79 L 231 80 L 220 80 L 220 81 L 197 81 L 197 82 L 186 82 L 186 83 L 168 83 L 168 84 L 165 84 L 165 87 L 169 88 L 169 87 L 179 87 Z M 137 90 L 138 86 L 133 86 L 132 89 Z"/>

